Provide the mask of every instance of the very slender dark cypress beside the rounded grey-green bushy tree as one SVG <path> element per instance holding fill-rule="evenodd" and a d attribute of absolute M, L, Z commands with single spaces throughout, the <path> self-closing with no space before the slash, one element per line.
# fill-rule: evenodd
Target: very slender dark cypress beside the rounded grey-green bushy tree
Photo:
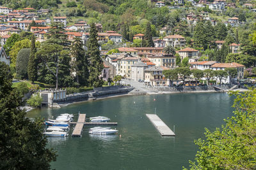
<path fill-rule="evenodd" d="M 28 60 L 28 79 L 32 81 L 32 83 L 36 80 L 37 75 L 37 63 L 35 59 L 36 46 L 35 46 L 35 35 L 31 36 L 31 47 L 30 47 L 30 55 Z"/>

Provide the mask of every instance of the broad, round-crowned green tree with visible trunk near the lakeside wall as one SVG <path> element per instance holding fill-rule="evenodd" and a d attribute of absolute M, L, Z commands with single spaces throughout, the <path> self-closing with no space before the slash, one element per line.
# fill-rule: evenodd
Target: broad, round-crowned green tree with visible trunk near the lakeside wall
<path fill-rule="evenodd" d="M 38 80 L 67 87 L 72 83 L 70 76 L 69 52 L 61 45 L 44 45 L 36 52 L 36 59 L 40 60 L 38 68 Z"/>

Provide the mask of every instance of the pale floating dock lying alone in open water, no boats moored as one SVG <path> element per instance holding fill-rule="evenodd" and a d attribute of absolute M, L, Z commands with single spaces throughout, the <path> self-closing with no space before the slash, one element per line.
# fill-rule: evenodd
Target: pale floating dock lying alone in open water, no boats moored
<path fill-rule="evenodd" d="M 161 136 L 175 136 L 175 133 L 164 124 L 163 120 L 154 114 L 146 114 Z"/>

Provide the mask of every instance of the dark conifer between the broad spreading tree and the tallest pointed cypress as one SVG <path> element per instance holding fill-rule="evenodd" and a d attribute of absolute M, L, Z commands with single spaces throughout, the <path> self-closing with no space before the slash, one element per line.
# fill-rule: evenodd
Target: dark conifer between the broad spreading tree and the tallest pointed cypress
<path fill-rule="evenodd" d="M 76 72 L 77 85 L 88 85 L 88 56 L 85 55 L 81 39 L 76 38 L 72 43 L 71 55 L 73 57 L 72 69 Z"/>

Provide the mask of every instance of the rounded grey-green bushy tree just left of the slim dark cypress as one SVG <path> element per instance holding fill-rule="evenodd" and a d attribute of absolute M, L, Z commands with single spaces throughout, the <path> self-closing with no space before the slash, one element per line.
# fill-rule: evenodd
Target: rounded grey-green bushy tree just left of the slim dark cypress
<path fill-rule="evenodd" d="M 22 48 L 16 61 L 16 73 L 20 78 L 28 78 L 28 60 L 29 60 L 30 48 Z"/>

